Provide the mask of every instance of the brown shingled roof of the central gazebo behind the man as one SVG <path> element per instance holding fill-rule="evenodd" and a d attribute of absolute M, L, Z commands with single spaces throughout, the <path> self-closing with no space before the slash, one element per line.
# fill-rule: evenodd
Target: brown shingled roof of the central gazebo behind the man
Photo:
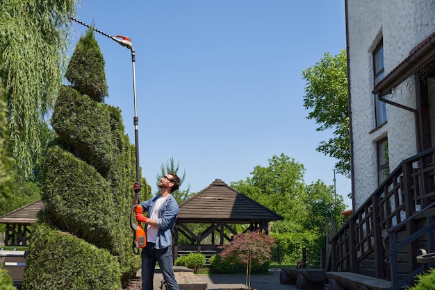
<path fill-rule="evenodd" d="M 252 220 L 277 221 L 279 214 L 216 179 L 179 205 L 177 220 L 185 223 L 220 220 L 249 223 Z"/>

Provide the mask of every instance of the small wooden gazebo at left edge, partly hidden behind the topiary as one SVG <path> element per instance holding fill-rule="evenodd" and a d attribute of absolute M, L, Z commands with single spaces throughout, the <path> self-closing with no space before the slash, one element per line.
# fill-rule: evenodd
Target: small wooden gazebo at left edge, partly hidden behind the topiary
<path fill-rule="evenodd" d="M 28 246 L 29 227 L 36 222 L 36 215 L 43 207 L 42 201 L 34 201 L 0 216 L 0 223 L 6 224 L 5 246 Z"/>

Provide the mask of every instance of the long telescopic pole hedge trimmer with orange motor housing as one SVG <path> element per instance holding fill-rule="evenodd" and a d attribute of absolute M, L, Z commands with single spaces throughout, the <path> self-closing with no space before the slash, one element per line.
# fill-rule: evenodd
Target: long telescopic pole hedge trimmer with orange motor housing
<path fill-rule="evenodd" d="M 136 147 L 136 182 L 140 183 L 140 167 L 139 167 L 139 131 L 138 131 L 138 110 L 136 107 L 136 70 L 135 70 L 135 51 L 133 49 L 133 43 L 131 43 L 130 37 L 122 36 L 122 35 L 115 35 L 110 36 L 107 33 L 104 33 L 103 31 L 99 31 L 97 28 L 94 28 L 88 24 L 85 24 L 84 22 L 79 21 L 78 19 L 75 19 L 74 17 L 69 17 L 70 19 L 74 20 L 74 22 L 77 22 L 83 26 L 86 26 L 88 28 L 92 28 L 94 31 L 97 31 L 97 33 L 100 33 L 106 37 L 109 37 L 111 40 L 115 40 L 115 42 L 121 44 L 122 46 L 125 46 L 127 49 L 130 49 L 131 51 L 131 63 L 133 65 L 133 99 L 134 99 L 134 117 L 133 117 L 133 123 L 134 123 L 134 141 L 135 141 L 135 147 Z M 136 255 L 139 254 L 140 248 L 145 248 L 147 244 L 147 237 L 145 234 L 144 228 L 142 228 L 142 225 L 140 222 L 136 225 L 136 223 L 133 220 L 133 212 L 142 214 L 142 206 L 139 205 L 140 203 L 140 188 L 135 189 L 135 196 L 133 198 L 133 207 L 131 207 L 131 213 L 130 213 L 130 227 L 133 230 L 133 253 Z"/>

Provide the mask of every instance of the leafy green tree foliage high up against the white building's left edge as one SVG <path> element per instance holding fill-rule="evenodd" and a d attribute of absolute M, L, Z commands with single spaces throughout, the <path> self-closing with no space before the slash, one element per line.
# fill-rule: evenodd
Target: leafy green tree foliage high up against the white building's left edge
<path fill-rule="evenodd" d="M 333 130 L 334 137 L 320 142 L 316 150 L 336 158 L 337 172 L 350 176 L 350 133 L 347 101 L 346 51 L 336 56 L 324 53 L 313 67 L 304 69 L 306 80 L 304 108 L 311 110 L 307 119 L 319 124 L 318 131 Z"/>

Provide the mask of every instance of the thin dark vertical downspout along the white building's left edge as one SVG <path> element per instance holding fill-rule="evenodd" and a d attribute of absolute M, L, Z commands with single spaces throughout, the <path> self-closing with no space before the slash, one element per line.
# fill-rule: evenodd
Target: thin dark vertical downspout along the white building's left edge
<path fill-rule="evenodd" d="M 350 94 L 350 58 L 349 58 L 349 18 L 347 17 L 347 0 L 345 0 L 346 24 L 346 66 L 347 66 L 347 110 L 349 111 L 349 139 L 350 139 L 350 188 L 352 195 L 352 209 L 355 212 L 355 178 L 354 178 L 354 135 L 352 131 L 352 98 Z"/>

